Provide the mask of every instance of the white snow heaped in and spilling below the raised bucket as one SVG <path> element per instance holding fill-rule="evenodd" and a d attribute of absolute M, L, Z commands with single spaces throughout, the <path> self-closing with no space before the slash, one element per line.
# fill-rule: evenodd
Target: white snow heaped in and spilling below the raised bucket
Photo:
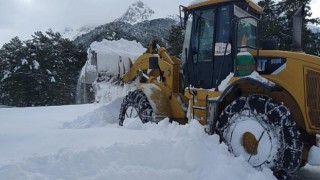
<path fill-rule="evenodd" d="M 93 62 L 94 54 L 91 53 L 93 51 L 97 54 L 96 64 Z M 119 97 L 125 96 L 128 91 L 134 89 L 134 83 L 124 86 L 115 85 L 115 83 L 119 81 L 117 79 L 119 78 L 118 75 L 122 76 L 130 69 L 130 60 L 134 63 L 145 52 L 145 48 L 140 43 L 125 39 L 118 41 L 104 39 L 101 42 L 93 42 L 88 52 L 88 60 L 83 67 L 83 71 L 85 72 L 81 73 L 79 79 L 93 77 L 92 73 L 97 73 L 96 69 L 100 75 L 106 78 L 102 82 L 95 82 L 93 84 L 96 102 L 109 103 Z M 84 76 L 87 77 L 84 78 Z"/>

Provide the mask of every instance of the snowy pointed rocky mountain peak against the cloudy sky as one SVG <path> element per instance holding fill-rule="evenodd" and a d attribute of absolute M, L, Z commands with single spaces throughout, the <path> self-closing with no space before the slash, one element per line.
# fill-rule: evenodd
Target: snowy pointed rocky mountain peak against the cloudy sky
<path fill-rule="evenodd" d="M 137 24 L 149 20 L 154 13 L 144 2 L 137 1 L 130 5 L 127 11 L 115 21 Z"/>

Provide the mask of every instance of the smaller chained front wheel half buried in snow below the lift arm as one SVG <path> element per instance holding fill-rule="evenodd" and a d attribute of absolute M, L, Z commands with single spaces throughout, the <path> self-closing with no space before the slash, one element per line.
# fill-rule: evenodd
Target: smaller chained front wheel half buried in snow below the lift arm
<path fill-rule="evenodd" d="M 119 125 L 123 126 L 125 118 L 139 117 L 142 123 L 153 120 L 153 109 L 142 90 L 130 91 L 123 99 L 119 114 Z"/>

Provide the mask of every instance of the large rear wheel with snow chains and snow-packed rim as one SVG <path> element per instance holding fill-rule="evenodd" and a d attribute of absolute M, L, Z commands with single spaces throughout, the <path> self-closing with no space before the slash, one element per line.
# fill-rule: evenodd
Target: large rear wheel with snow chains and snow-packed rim
<path fill-rule="evenodd" d="M 234 155 L 242 155 L 253 167 L 270 168 L 279 179 L 286 179 L 300 166 L 303 143 L 299 129 L 289 109 L 270 97 L 236 99 L 222 111 L 216 132 Z M 254 136 L 250 139 L 245 133 Z M 248 151 L 244 144 L 252 139 L 255 151 Z"/>

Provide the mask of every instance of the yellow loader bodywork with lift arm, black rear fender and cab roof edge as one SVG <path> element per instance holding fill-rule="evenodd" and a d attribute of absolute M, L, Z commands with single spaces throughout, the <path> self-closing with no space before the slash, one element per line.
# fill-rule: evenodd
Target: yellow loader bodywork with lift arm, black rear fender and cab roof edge
<path fill-rule="evenodd" d="M 262 9 L 250 0 L 244 0 L 256 12 Z M 234 2 L 234 0 L 207 0 L 193 4 L 187 9 L 211 6 L 219 3 Z M 285 64 L 272 74 L 260 74 L 262 64 L 247 68 L 256 74 L 256 79 L 249 76 L 230 76 L 225 89 L 183 87 L 182 62 L 170 56 L 163 47 L 156 47 L 151 41 L 147 51 L 141 55 L 129 71 L 123 75 L 124 82 L 135 78 L 140 79 L 138 88 L 147 96 L 155 119 L 161 120 L 169 117 L 173 121 L 185 124 L 189 119 L 196 119 L 207 125 L 212 118 L 211 109 L 215 109 L 215 116 L 241 96 L 261 94 L 271 97 L 276 102 L 283 103 L 293 116 L 299 128 L 303 129 L 310 142 L 314 144 L 316 134 L 320 134 L 320 57 L 303 52 L 287 52 L 279 50 L 252 50 L 249 51 L 254 59 L 268 57 L 271 63 L 277 63 L 278 58 L 285 59 Z M 150 59 L 157 59 L 158 68 L 150 68 Z M 242 67 L 243 68 L 243 67 Z M 254 68 L 254 69 L 252 69 Z M 235 68 L 236 69 L 236 68 Z M 232 73 L 232 72 L 231 72 Z M 233 72 L 235 74 L 235 72 Z M 261 82 L 264 79 L 266 82 Z M 269 83 L 269 84 L 268 84 Z M 271 85 L 270 85 L 271 84 Z M 208 102 L 215 101 L 212 107 Z M 308 148 L 305 146 L 304 157 L 307 158 Z"/>

